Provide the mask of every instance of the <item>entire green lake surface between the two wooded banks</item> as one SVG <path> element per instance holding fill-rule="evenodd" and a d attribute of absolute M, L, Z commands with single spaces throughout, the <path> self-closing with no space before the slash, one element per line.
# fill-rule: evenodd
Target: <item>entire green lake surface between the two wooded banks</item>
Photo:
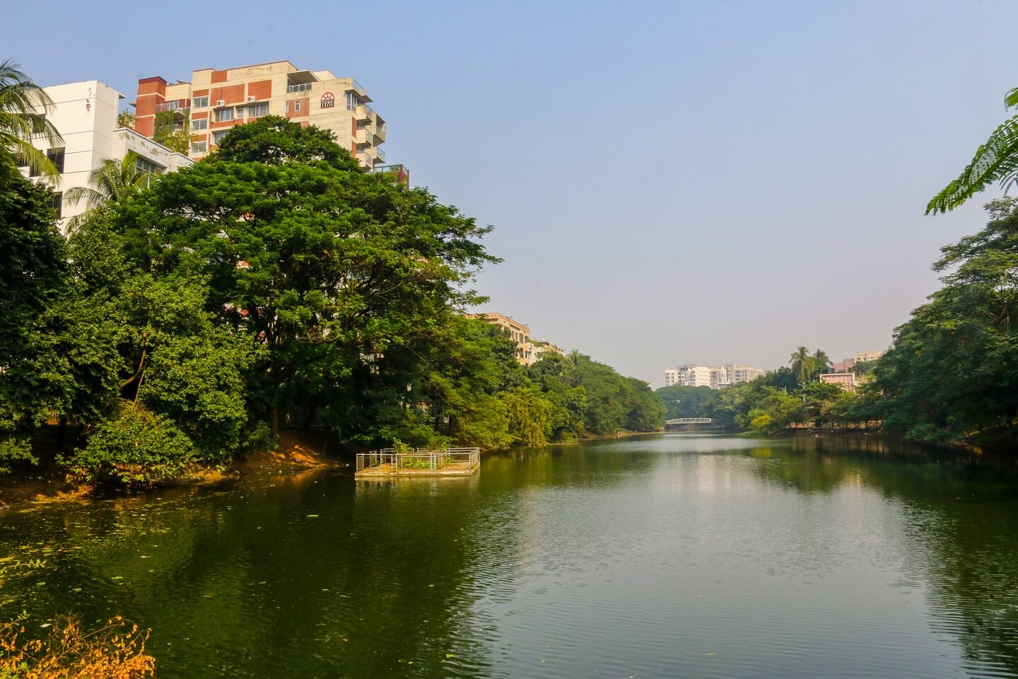
<path fill-rule="evenodd" d="M 1018 677 L 1018 479 L 879 441 L 657 435 L 0 513 L 0 613 L 157 677 Z"/>

